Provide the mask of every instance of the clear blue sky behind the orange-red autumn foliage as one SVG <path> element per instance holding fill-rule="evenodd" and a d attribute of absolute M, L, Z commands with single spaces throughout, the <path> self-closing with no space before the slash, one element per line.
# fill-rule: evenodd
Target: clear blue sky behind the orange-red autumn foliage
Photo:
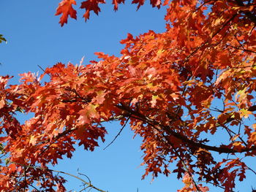
<path fill-rule="evenodd" d="M 152 9 L 148 1 L 138 12 L 129 2 L 114 12 L 109 1 L 101 6 L 99 16 L 92 14 L 87 23 L 82 18 L 83 11 L 78 11 L 78 20 L 69 19 L 68 25 L 62 28 L 59 16 L 54 16 L 58 3 L 59 0 L 0 1 L 0 34 L 8 41 L 0 44 L 0 75 L 13 75 L 12 83 L 18 83 L 18 74 L 42 73 L 37 65 L 45 69 L 59 61 L 78 64 L 83 56 L 84 64 L 88 64 L 96 59 L 94 52 L 119 55 L 123 47 L 119 41 L 126 38 L 128 32 L 138 35 L 148 30 L 165 31 L 165 8 Z M 183 186 L 177 182 L 176 174 L 159 176 L 153 183 L 151 177 L 140 180 L 144 172 L 140 166 L 143 161 L 140 138 L 133 139 L 127 127 L 113 145 L 103 150 L 121 128 L 118 123 L 108 123 L 106 127 L 109 132 L 106 142 L 93 153 L 79 147 L 71 160 L 65 158 L 53 169 L 75 175 L 79 169 L 90 177 L 91 183 L 110 192 L 137 192 L 137 188 L 139 192 L 171 192 Z M 80 191 L 80 181 L 65 178 L 67 189 Z M 247 191 L 251 184 L 252 181 L 246 184 Z M 243 185 L 240 188 L 245 189 Z"/>

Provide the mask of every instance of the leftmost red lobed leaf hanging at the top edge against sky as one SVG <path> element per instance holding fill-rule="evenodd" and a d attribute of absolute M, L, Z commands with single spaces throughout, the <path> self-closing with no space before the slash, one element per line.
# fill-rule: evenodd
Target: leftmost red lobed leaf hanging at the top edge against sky
<path fill-rule="evenodd" d="M 55 15 L 61 15 L 61 18 L 59 20 L 59 23 L 61 23 L 61 26 L 64 25 L 64 23 L 67 23 L 67 18 L 70 16 L 70 18 L 77 19 L 77 12 L 75 9 L 73 9 L 72 4 L 76 4 L 75 0 L 63 0 L 59 3 L 59 7 L 56 10 Z"/>

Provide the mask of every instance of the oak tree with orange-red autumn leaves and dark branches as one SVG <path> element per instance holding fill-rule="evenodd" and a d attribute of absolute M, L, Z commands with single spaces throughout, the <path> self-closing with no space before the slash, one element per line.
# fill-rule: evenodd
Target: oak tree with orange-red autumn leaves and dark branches
<path fill-rule="evenodd" d="M 124 1 L 113 1 L 114 9 Z M 84 18 L 104 1 L 83 1 Z M 144 1 L 132 1 L 138 8 Z M 76 18 L 61 1 L 61 26 Z M 151 1 L 153 7 L 161 1 Z M 107 133 L 102 122 L 129 123 L 143 137 L 145 177 L 174 172 L 180 191 L 208 191 L 205 181 L 233 191 L 242 181 L 255 147 L 256 2 L 165 1 L 166 31 L 128 34 L 121 57 L 96 53 L 86 66 L 56 64 L 20 85 L 0 79 L 1 191 L 22 191 L 35 181 L 48 191 L 65 191 L 64 178 L 48 164 L 72 157 L 75 141 L 94 150 Z M 50 76 L 41 82 L 44 75 Z M 32 112 L 20 124 L 15 112 Z M 211 139 L 225 134 L 213 144 Z M 223 158 L 225 154 L 225 158 Z M 176 168 L 170 169 L 170 164 Z M 56 184 L 57 183 L 57 184 Z M 89 183 L 91 185 L 91 183 Z"/>

